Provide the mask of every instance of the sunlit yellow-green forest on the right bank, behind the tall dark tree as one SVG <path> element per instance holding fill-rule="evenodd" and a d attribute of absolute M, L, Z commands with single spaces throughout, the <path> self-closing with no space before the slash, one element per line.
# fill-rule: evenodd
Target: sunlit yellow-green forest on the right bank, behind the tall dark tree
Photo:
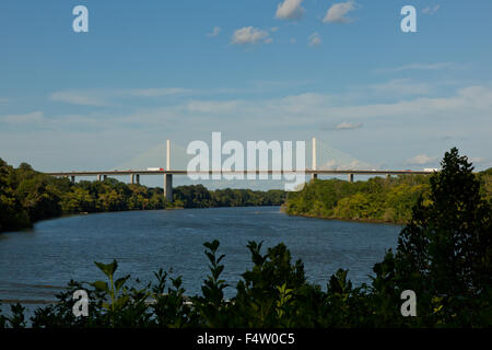
<path fill-rule="evenodd" d="M 492 198 L 492 168 L 476 174 L 480 194 Z M 326 219 L 407 223 L 412 207 L 422 197 L 429 203 L 430 175 L 373 177 L 349 183 L 340 179 L 312 180 L 301 191 L 289 192 L 285 212 Z"/>

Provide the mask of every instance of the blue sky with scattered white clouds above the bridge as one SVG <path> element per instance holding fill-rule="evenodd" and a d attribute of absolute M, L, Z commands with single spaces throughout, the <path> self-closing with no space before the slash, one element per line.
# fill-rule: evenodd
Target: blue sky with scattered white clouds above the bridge
<path fill-rule="evenodd" d="M 490 0 L 2 0 L 0 158 L 112 170 L 221 131 L 316 137 L 377 168 L 437 167 L 457 147 L 488 168 L 491 13 Z"/>

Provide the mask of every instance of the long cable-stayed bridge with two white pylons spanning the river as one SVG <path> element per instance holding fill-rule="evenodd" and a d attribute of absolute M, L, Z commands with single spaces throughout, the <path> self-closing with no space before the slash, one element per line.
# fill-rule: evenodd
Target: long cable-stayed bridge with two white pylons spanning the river
<path fill-rule="evenodd" d="M 140 175 L 160 175 L 164 176 L 164 196 L 167 201 L 173 201 L 173 176 L 174 175 L 284 175 L 284 174 L 305 174 L 311 175 L 313 179 L 318 175 L 348 175 L 348 180 L 353 183 L 354 175 L 429 175 L 431 171 L 398 171 L 398 170 L 317 170 L 316 165 L 316 139 L 313 138 L 313 165 L 312 168 L 273 171 L 273 170 L 244 170 L 244 171 L 183 171 L 171 170 L 171 141 L 166 144 L 166 167 L 162 170 L 114 170 L 114 171 L 74 171 L 74 172 L 52 172 L 45 173 L 57 177 L 68 177 L 72 183 L 75 177 L 95 176 L 97 180 L 105 180 L 108 176 L 130 176 L 130 184 L 140 184 Z"/>

